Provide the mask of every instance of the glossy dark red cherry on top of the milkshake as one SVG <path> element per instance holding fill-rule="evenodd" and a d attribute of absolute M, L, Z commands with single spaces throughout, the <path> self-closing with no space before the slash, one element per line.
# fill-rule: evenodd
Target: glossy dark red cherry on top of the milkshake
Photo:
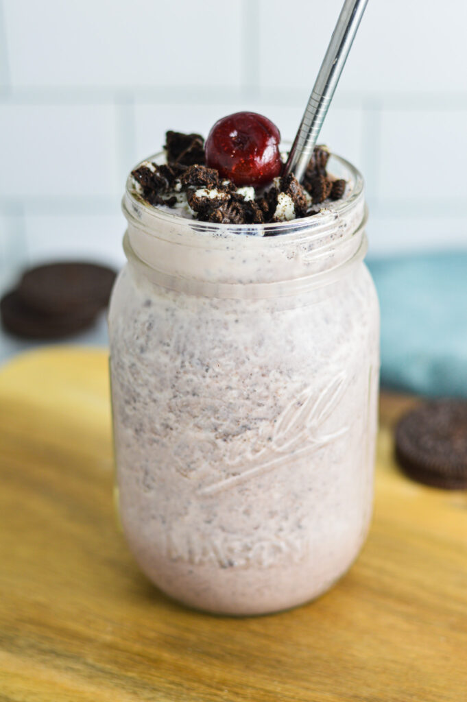
<path fill-rule="evenodd" d="M 216 121 L 204 146 L 206 166 L 217 168 L 235 185 L 268 185 L 279 176 L 280 133 L 256 112 L 235 112 Z"/>

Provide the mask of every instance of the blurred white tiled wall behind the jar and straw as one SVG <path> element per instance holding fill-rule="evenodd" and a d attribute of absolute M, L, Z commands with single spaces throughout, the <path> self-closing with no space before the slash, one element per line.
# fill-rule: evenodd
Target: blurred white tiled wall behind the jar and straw
<path fill-rule="evenodd" d="M 120 199 L 168 128 L 293 138 L 342 0 L 0 0 L 0 279 L 124 262 Z M 467 4 L 370 0 L 320 141 L 364 174 L 369 259 L 467 249 Z"/>

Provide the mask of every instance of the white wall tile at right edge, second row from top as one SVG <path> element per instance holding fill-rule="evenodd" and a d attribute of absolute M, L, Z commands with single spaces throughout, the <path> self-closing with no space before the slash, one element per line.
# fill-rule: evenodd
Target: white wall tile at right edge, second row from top
<path fill-rule="evenodd" d="M 467 110 L 384 110 L 381 199 L 466 197 Z"/>

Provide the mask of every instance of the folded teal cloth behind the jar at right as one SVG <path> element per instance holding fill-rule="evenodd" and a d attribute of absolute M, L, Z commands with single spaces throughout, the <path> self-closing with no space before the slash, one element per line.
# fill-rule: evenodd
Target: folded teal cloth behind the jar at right
<path fill-rule="evenodd" d="M 467 397 L 467 251 L 368 267 L 381 305 L 381 385 Z"/>

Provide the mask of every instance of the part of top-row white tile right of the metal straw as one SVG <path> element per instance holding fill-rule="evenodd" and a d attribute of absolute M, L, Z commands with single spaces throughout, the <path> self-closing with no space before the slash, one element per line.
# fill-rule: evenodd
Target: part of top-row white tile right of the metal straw
<path fill-rule="evenodd" d="M 466 25 L 463 0 L 369 2 L 340 89 L 433 93 L 433 106 L 442 93 L 465 91 Z"/>

